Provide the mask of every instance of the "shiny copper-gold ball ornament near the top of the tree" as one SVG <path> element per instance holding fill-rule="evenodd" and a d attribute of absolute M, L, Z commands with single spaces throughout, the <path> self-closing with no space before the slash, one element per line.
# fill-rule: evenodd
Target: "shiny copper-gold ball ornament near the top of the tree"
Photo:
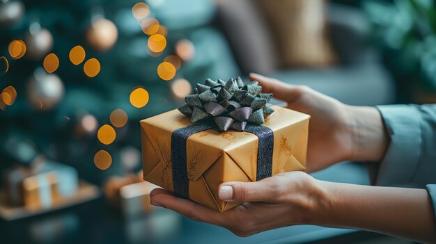
<path fill-rule="evenodd" d="M 118 29 L 114 22 L 103 17 L 93 19 L 91 26 L 86 31 L 88 44 L 98 51 L 107 51 L 114 46 L 118 39 Z"/>

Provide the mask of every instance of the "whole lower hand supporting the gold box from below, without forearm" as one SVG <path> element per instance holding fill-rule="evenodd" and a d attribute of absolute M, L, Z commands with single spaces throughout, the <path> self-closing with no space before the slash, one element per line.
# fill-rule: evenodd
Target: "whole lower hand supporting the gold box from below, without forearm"
<path fill-rule="evenodd" d="M 320 213 L 328 211 L 325 194 L 317 182 L 304 172 L 286 172 L 249 183 L 226 182 L 219 186 L 219 199 L 244 203 L 222 213 L 160 188 L 153 190 L 150 198 L 155 206 L 225 227 L 238 236 L 250 236 L 267 229 L 311 224 L 315 219 L 319 222 Z"/>

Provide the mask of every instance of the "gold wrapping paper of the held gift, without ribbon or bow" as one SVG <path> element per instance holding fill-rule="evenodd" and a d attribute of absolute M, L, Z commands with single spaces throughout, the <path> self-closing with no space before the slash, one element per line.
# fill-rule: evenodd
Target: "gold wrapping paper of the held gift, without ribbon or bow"
<path fill-rule="evenodd" d="M 309 115 L 279 106 L 262 124 L 274 132 L 272 174 L 306 167 Z M 173 191 L 171 133 L 192 122 L 178 110 L 141 120 L 143 175 L 146 181 Z M 240 203 L 219 200 L 225 181 L 256 181 L 258 138 L 249 132 L 208 129 L 187 139 L 189 198 L 219 211 Z"/>

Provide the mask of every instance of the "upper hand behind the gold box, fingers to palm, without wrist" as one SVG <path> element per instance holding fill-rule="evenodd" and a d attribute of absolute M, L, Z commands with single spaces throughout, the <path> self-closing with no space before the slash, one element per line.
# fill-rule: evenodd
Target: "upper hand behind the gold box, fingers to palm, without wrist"
<path fill-rule="evenodd" d="M 276 79 L 250 74 L 262 86 L 262 92 L 287 102 L 287 107 L 311 115 L 306 170 L 313 172 L 352 154 L 350 116 L 345 104 L 306 86 L 293 86 Z"/>

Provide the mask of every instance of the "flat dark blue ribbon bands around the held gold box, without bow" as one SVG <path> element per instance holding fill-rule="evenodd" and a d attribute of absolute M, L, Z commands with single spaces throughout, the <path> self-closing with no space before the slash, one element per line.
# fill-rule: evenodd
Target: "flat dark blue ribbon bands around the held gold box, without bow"
<path fill-rule="evenodd" d="M 173 171 L 174 193 L 189 199 L 189 180 L 187 176 L 186 142 L 194 133 L 212 129 L 215 124 L 196 123 L 176 129 L 171 134 L 171 167 Z M 274 133 L 262 125 L 247 125 L 245 131 L 259 138 L 256 181 L 272 176 L 272 151 L 274 148 Z"/>

